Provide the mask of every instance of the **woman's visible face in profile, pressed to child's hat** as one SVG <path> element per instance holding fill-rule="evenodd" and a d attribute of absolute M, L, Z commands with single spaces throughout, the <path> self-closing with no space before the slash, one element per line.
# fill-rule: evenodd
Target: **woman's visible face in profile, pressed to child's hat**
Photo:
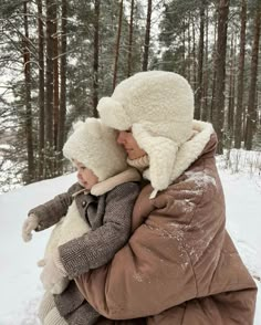
<path fill-rule="evenodd" d="M 134 160 L 146 155 L 146 153 L 138 146 L 130 129 L 119 130 L 117 143 L 122 145 L 128 155 L 128 159 Z"/>

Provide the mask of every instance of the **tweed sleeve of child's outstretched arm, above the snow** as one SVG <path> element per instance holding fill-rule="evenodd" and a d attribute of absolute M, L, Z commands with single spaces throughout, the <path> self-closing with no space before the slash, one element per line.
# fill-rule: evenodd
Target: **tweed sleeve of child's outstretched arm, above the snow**
<path fill-rule="evenodd" d="M 74 184 L 66 192 L 58 195 L 52 200 L 31 209 L 28 214 L 33 213 L 39 218 L 35 231 L 44 230 L 58 223 L 66 214 L 73 200 L 72 195 L 81 188 L 79 184 Z"/>

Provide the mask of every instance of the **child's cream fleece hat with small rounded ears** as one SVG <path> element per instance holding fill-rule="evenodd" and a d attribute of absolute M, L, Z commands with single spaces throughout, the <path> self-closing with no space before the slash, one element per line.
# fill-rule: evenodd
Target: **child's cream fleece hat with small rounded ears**
<path fill-rule="evenodd" d="M 63 147 L 67 159 L 76 159 L 103 181 L 127 168 L 126 153 L 116 143 L 115 129 L 97 118 L 86 118 L 73 125 L 73 134 Z"/>

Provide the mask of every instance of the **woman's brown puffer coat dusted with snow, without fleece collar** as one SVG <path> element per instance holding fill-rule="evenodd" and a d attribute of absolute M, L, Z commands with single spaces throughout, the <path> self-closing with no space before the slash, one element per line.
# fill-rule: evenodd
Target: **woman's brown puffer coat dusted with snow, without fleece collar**
<path fill-rule="evenodd" d="M 257 287 L 225 229 L 216 145 L 212 135 L 201 156 L 155 199 L 145 186 L 128 243 L 107 265 L 76 277 L 105 317 L 147 317 L 148 325 L 253 324 Z"/>

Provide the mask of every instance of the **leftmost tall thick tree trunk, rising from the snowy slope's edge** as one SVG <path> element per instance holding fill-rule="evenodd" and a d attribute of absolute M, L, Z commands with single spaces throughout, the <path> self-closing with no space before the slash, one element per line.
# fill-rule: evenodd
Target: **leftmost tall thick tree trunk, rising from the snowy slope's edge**
<path fill-rule="evenodd" d="M 23 66 L 25 80 L 25 135 L 27 135 L 27 151 L 28 151 L 28 172 L 27 182 L 34 180 L 34 157 L 33 157 L 33 135 L 32 135 L 32 99 L 31 99 L 31 65 L 29 50 L 29 31 L 28 31 L 28 1 L 23 1 Z"/>

